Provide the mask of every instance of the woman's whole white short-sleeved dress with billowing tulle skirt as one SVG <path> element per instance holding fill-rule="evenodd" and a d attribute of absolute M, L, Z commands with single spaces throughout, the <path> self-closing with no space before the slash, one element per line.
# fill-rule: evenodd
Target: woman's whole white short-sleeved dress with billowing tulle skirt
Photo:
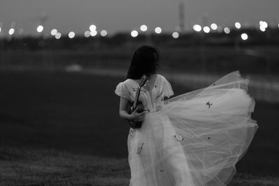
<path fill-rule="evenodd" d="M 126 79 L 115 93 L 132 101 L 137 86 Z M 157 74 L 151 91 L 143 87 L 140 93 L 142 127 L 128 134 L 130 186 L 227 185 L 258 128 L 247 91 L 248 79 L 236 71 L 164 101 L 174 93 Z"/>

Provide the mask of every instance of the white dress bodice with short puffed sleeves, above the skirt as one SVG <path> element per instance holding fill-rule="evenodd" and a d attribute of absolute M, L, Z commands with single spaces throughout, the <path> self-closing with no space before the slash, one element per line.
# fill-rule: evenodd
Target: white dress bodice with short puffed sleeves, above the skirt
<path fill-rule="evenodd" d="M 151 90 L 143 86 L 140 91 L 139 100 L 142 101 L 147 112 L 158 111 L 164 104 L 164 97 L 169 98 L 169 96 L 174 94 L 172 86 L 165 77 L 157 74 L 155 78 Z M 134 101 L 138 85 L 134 79 L 126 79 L 126 81 L 116 86 L 115 93 L 130 101 Z"/>

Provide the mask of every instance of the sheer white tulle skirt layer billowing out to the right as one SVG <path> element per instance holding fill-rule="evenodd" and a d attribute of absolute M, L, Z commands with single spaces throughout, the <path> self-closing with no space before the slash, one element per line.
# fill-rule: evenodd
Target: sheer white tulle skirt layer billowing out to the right
<path fill-rule="evenodd" d="M 210 86 L 165 100 L 168 116 L 195 185 L 227 185 L 258 125 L 250 118 L 255 100 L 248 79 L 231 72 Z"/>

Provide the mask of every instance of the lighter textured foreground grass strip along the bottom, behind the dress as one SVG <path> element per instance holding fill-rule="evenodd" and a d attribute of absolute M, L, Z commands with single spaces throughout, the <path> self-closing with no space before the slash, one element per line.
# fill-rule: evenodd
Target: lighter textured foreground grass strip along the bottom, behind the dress
<path fill-rule="evenodd" d="M 59 150 L 0 149 L 0 185 L 128 185 L 126 158 L 76 155 Z M 229 186 L 278 185 L 271 176 L 236 173 Z"/>

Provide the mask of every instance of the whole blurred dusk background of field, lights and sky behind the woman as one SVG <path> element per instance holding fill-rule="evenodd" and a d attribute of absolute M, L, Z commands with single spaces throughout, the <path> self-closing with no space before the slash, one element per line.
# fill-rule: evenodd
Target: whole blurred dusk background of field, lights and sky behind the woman
<path fill-rule="evenodd" d="M 273 178 L 278 7 L 277 1 L 1 1 L 0 184 L 127 185 L 129 127 L 114 90 L 142 45 L 159 50 L 159 73 L 174 95 L 235 70 L 250 80 L 259 129 L 236 164 L 236 178 L 279 184 Z"/>

